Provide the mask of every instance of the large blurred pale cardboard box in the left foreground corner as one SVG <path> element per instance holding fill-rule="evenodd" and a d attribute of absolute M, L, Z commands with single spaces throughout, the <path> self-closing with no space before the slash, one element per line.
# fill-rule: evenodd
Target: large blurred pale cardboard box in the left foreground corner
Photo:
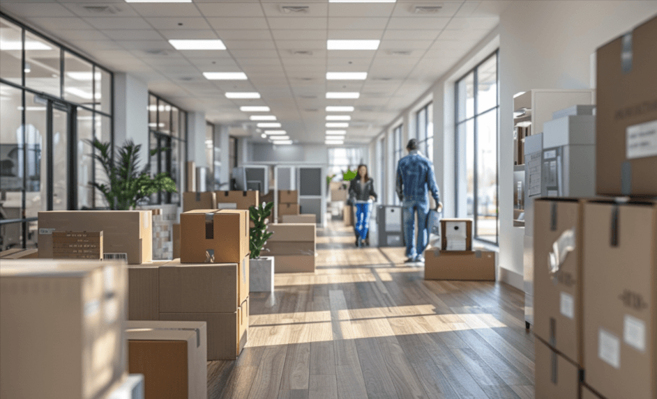
<path fill-rule="evenodd" d="M 0 262 L 0 397 L 96 399 L 126 372 L 119 262 Z"/>

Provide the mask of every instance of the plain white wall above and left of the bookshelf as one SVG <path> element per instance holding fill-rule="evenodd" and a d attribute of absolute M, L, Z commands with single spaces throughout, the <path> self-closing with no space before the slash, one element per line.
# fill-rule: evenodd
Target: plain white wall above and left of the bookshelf
<path fill-rule="evenodd" d="M 499 262 L 511 272 L 512 285 L 522 278 L 522 236 L 511 221 L 513 163 L 503 161 L 513 159 L 513 95 L 532 88 L 589 88 L 596 48 L 656 14 L 657 1 L 580 0 L 515 1 L 501 15 Z"/>

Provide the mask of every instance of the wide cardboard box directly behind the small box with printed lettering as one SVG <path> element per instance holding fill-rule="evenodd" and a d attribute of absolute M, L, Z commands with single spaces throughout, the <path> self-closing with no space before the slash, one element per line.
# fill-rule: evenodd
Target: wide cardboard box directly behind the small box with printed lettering
<path fill-rule="evenodd" d="M 149 210 L 50 210 L 38 213 L 39 258 L 52 258 L 53 231 L 103 231 L 103 259 L 139 265 L 153 260 Z"/>

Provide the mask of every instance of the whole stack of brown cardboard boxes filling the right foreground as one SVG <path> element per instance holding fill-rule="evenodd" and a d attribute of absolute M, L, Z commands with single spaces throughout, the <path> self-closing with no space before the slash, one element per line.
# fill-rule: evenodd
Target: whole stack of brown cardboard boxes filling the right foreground
<path fill-rule="evenodd" d="M 657 18 L 598 49 L 608 197 L 535 203 L 536 398 L 657 398 L 655 42 Z"/>

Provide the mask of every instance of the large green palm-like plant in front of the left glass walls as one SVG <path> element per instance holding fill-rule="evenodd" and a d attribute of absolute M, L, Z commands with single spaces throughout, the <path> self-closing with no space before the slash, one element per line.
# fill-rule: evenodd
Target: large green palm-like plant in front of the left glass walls
<path fill-rule="evenodd" d="M 110 143 L 98 139 L 89 143 L 95 149 L 93 159 L 103 166 L 107 175 L 107 184 L 91 182 L 91 185 L 103 193 L 111 210 L 130 210 L 137 206 L 137 201 L 160 191 L 176 192 L 176 182 L 167 173 L 151 177 L 148 164 L 139 169 L 140 144 L 128 140 L 112 155 Z M 158 151 L 161 150 L 151 150 L 151 157 Z"/>

